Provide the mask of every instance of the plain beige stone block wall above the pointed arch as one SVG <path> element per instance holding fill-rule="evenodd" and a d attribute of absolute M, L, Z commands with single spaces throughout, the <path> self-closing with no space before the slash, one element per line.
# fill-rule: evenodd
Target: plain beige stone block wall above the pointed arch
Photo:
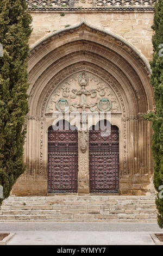
<path fill-rule="evenodd" d="M 152 23 L 153 11 L 114 11 L 101 12 L 81 11 L 68 12 L 55 11 L 31 11 L 33 17 L 33 32 L 30 37 L 30 46 L 47 36 L 51 32 L 64 29 L 66 25 L 79 24 L 83 19 L 90 25 L 103 28 L 117 35 L 122 36 L 133 44 L 148 60 L 152 59 Z"/>

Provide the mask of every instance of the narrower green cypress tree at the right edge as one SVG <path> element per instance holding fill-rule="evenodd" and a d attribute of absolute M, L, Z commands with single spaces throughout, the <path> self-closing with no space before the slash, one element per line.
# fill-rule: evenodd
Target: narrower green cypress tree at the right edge
<path fill-rule="evenodd" d="M 145 119 L 152 120 L 154 135 L 152 139 L 152 154 L 154 160 L 154 186 L 159 193 L 159 186 L 163 185 L 163 57 L 161 57 L 160 45 L 163 44 L 163 1 L 155 4 L 153 36 L 153 61 L 151 84 L 154 88 L 156 113 L 145 115 Z M 163 53 L 163 52 L 162 52 Z M 159 56 L 160 55 L 160 56 Z M 156 207 L 159 211 L 158 224 L 163 228 L 163 199 L 157 194 Z"/>

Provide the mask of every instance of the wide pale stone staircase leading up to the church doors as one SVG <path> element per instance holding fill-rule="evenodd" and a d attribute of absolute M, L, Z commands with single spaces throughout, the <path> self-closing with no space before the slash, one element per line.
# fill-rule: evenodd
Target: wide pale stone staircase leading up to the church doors
<path fill-rule="evenodd" d="M 156 222 L 155 196 L 9 197 L 0 222 Z"/>

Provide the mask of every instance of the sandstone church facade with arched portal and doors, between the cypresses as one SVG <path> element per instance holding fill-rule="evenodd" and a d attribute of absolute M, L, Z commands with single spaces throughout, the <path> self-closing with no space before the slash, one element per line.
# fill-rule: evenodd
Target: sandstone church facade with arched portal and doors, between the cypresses
<path fill-rule="evenodd" d="M 154 1 L 27 3 L 27 170 L 12 195 L 152 194 Z"/>

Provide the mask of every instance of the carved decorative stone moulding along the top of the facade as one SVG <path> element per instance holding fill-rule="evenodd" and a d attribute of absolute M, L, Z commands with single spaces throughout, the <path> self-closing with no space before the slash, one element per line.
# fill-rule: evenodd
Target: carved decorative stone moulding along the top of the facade
<path fill-rule="evenodd" d="M 130 8 L 130 7 L 153 7 L 156 0 L 27 0 L 29 8 Z M 82 5 L 82 6 L 81 6 Z"/>

